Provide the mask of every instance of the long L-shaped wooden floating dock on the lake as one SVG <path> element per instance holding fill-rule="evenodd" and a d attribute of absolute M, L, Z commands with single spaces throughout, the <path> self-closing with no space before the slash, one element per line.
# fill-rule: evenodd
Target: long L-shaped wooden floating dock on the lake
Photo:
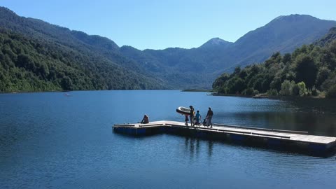
<path fill-rule="evenodd" d="M 336 146 L 336 137 L 310 135 L 308 132 L 272 130 L 256 127 L 214 124 L 213 127 L 186 126 L 185 123 L 161 120 L 148 124 L 116 124 L 113 131 L 143 136 L 148 134 L 179 134 L 207 139 L 233 141 L 239 144 L 262 144 L 304 151 L 329 151 Z"/>

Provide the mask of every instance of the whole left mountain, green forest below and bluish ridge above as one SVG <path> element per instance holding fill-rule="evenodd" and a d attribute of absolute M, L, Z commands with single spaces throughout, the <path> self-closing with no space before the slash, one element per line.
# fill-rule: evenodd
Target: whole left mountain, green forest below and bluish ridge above
<path fill-rule="evenodd" d="M 0 8 L 0 92 L 165 89 L 113 41 Z"/>

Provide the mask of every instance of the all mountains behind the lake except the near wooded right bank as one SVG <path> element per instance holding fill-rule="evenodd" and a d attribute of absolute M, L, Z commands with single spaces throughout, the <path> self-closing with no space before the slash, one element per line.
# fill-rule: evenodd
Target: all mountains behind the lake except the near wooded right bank
<path fill-rule="evenodd" d="M 0 91 L 210 89 L 223 71 L 292 52 L 335 25 L 289 15 L 235 43 L 213 38 L 199 48 L 137 50 L 0 8 Z"/>

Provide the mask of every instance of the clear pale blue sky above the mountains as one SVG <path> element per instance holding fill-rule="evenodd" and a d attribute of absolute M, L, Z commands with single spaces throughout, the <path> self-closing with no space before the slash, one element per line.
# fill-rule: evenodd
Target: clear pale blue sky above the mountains
<path fill-rule="evenodd" d="M 0 6 L 141 50 L 196 48 L 214 37 L 235 42 L 279 15 L 336 20 L 335 0 L 1 0 Z"/>

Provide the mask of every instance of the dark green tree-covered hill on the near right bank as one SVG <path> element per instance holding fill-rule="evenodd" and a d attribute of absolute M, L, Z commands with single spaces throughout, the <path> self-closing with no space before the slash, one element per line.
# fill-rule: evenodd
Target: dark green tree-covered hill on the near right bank
<path fill-rule="evenodd" d="M 293 53 L 276 52 L 262 64 L 223 73 L 213 84 L 222 94 L 336 97 L 336 28 Z"/>

